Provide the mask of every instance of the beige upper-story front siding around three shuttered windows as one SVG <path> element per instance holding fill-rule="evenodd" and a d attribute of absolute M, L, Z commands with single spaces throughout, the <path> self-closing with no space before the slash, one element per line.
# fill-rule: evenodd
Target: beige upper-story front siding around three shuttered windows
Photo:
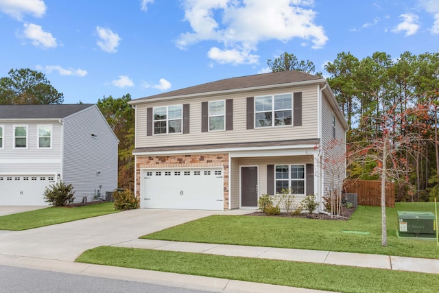
<path fill-rule="evenodd" d="M 302 126 L 279 126 L 246 129 L 246 98 L 261 95 L 302 92 Z M 317 86 L 297 86 L 287 89 L 232 93 L 209 97 L 191 97 L 171 101 L 137 104 L 137 148 L 166 145 L 203 145 L 215 143 L 245 143 L 257 141 L 283 141 L 315 139 L 318 137 Z M 233 99 L 233 130 L 201 132 L 201 103 L 218 99 Z M 147 137 L 146 112 L 149 107 L 190 103 L 189 134 L 158 134 Z"/>

